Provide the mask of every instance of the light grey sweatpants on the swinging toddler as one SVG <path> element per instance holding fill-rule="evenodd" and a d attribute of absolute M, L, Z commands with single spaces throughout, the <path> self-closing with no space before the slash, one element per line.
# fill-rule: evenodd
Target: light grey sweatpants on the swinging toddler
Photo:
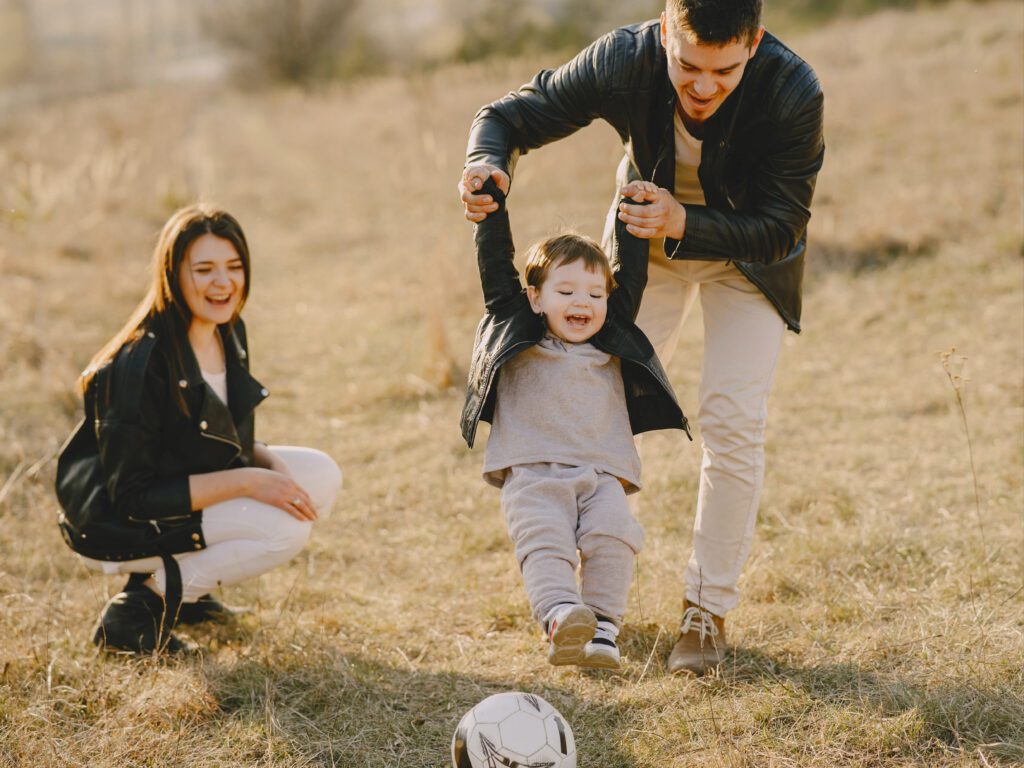
<path fill-rule="evenodd" d="M 617 477 L 590 466 L 510 467 L 502 511 L 539 623 L 554 606 L 581 599 L 598 615 L 622 623 L 643 528 Z"/>

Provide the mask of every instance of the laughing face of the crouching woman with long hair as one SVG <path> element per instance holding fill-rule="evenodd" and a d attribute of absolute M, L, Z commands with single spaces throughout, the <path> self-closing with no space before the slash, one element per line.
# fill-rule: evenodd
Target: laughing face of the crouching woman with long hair
<path fill-rule="evenodd" d="M 245 267 L 229 241 L 203 234 L 188 248 L 178 282 L 193 324 L 220 326 L 239 310 L 245 294 Z"/>

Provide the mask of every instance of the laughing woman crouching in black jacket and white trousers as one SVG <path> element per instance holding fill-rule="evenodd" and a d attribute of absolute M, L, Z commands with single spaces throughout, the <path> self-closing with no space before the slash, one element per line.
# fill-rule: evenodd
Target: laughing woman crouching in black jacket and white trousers
<path fill-rule="evenodd" d="M 290 560 L 341 486 L 326 454 L 253 438 L 267 390 L 240 317 L 250 275 L 230 214 L 178 211 L 148 293 L 82 375 L 85 419 L 57 466 L 60 529 L 90 567 L 131 574 L 99 617 L 101 648 L 180 649 L 175 624 L 224 617 L 209 593 Z"/>

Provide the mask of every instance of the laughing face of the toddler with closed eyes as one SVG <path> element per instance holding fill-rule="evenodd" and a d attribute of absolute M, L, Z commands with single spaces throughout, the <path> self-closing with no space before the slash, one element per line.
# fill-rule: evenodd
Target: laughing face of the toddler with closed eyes
<path fill-rule="evenodd" d="M 527 286 L 535 312 L 544 315 L 548 330 L 562 341 L 587 341 L 601 330 L 608 314 L 604 274 L 591 271 L 583 259 L 552 267 L 538 289 Z"/>

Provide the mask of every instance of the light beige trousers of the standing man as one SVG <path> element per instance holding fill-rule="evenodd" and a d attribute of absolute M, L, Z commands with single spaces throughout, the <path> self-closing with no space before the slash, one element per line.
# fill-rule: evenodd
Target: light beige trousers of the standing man
<path fill-rule="evenodd" d="M 754 538 L 764 484 L 768 393 L 785 325 L 732 264 L 670 261 L 663 243 L 651 241 L 637 325 L 666 369 L 698 296 L 705 351 L 696 419 L 703 458 L 686 599 L 725 615 L 739 601 L 736 583 Z"/>

